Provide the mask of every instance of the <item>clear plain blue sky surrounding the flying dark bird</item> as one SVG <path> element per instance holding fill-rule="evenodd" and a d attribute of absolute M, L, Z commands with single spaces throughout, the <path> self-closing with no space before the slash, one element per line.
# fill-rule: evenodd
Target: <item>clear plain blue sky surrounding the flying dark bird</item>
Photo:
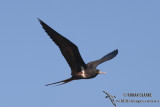
<path fill-rule="evenodd" d="M 98 66 L 107 74 L 44 86 L 71 72 L 37 18 L 75 43 L 86 63 L 118 49 Z M 160 100 L 159 55 L 159 0 L 0 1 L 0 107 L 113 107 L 102 91 L 116 99 Z M 130 92 L 152 97 L 123 97 Z M 135 106 L 160 103 L 117 103 Z"/>

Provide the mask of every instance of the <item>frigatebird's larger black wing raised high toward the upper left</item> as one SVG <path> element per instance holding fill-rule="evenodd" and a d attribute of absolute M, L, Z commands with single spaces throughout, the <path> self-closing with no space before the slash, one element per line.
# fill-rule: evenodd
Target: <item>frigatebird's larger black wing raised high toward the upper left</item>
<path fill-rule="evenodd" d="M 45 32 L 50 36 L 50 38 L 56 43 L 56 45 L 60 48 L 61 53 L 65 57 L 66 61 L 68 62 L 71 70 L 72 75 L 77 73 L 77 71 L 81 70 L 81 66 L 86 68 L 86 64 L 84 63 L 78 47 L 73 44 L 71 41 L 63 37 L 61 34 L 53 30 L 47 24 L 39 19 L 40 24 L 42 25 Z"/>

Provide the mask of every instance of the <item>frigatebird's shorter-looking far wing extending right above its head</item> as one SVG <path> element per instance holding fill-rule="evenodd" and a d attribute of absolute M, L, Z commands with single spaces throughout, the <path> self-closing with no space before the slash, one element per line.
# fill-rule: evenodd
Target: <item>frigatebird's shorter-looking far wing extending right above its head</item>
<path fill-rule="evenodd" d="M 105 62 L 105 61 L 108 61 L 108 60 L 114 58 L 117 54 L 118 54 L 118 49 L 110 52 L 109 54 L 105 55 L 104 57 L 102 57 L 102 58 L 99 59 L 99 60 L 89 62 L 89 63 L 87 64 L 87 66 L 96 68 L 99 64 L 101 64 L 101 63 L 103 63 L 103 62 Z"/>

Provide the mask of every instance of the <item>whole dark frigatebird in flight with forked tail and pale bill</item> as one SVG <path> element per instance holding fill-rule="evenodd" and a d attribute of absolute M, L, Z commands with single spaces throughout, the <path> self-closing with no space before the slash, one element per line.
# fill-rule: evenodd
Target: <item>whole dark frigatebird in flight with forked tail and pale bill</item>
<path fill-rule="evenodd" d="M 106 72 L 101 72 L 99 69 L 96 69 L 96 67 L 99 64 L 114 58 L 118 54 L 118 50 L 116 49 L 110 52 L 109 54 L 105 55 L 101 59 L 85 64 L 85 62 L 83 61 L 79 53 L 78 47 L 74 43 L 72 43 L 67 38 L 63 37 L 61 34 L 53 30 L 51 27 L 45 24 L 42 20 L 40 19 L 38 20 L 42 25 L 42 28 L 45 30 L 45 32 L 60 48 L 60 51 L 64 56 L 64 58 L 66 59 L 66 61 L 68 62 L 72 72 L 71 73 L 72 76 L 70 78 L 63 81 L 47 84 L 45 86 L 57 84 L 57 83 L 60 83 L 59 85 L 62 85 L 73 80 L 90 79 L 90 78 L 96 77 L 98 74 L 106 73 Z"/>

